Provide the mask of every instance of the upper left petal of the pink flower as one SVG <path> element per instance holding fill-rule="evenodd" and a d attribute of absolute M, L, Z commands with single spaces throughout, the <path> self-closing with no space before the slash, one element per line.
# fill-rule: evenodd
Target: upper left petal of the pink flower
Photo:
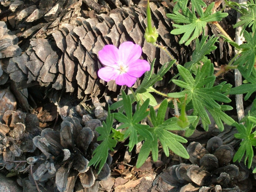
<path fill-rule="evenodd" d="M 119 67 L 119 50 L 114 45 L 105 45 L 99 51 L 100 62 L 105 66 Z"/>

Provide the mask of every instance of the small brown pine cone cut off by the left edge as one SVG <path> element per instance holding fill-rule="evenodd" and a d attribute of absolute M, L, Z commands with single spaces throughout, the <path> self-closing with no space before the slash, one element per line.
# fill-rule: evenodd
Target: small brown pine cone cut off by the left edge
<path fill-rule="evenodd" d="M 33 114 L 31 115 L 33 116 Z M 32 140 L 36 135 L 26 130 L 25 119 L 26 115 L 21 111 L 6 111 L 3 114 L 2 121 L 5 124 L 0 123 L 0 159 L 2 163 L 0 165 L 8 170 L 12 168 L 15 168 L 14 171 L 24 170 L 26 167 L 24 162 L 13 161 L 25 161 L 26 153 L 32 153 L 36 149 Z M 35 121 L 33 125 L 33 130 L 38 130 L 37 133 L 40 131 L 38 126 L 37 119 L 37 123 Z"/>

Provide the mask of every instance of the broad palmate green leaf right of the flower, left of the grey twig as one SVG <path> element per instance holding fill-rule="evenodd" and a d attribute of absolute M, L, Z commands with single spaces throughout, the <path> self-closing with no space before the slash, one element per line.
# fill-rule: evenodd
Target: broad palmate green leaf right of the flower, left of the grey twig
<path fill-rule="evenodd" d="M 223 85 L 213 86 L 216 78 L 213 76 L 213 64 L 211 64 L 211 62 L 204 63 L 201 69 L 198 69 L 195 79 L 185 67 L 181 65 L 177 67 L 183 81 L 173 80 L 173 83 L 184 88 L 182 92 L 187 94 L 186 104 L 192 101 L 194 108 L 192 115 L 201 118 L 204 129 L 208 130 L 208 125 L 211 123 L 206 109 L 218 120 L 220 130 L 223 128 L 223 123 L 220 120 L 228 120 L 226 123 L 231 125 L 233 121 L 222 112 L 224 109 L 228 108 L 221 107 L 221 105 L 218 104 L 218 102 L 228 103 L 231 100 L 222 93 Z M 209 73 L 209 71 L 211 71 L 211 73 Z M 183 84 L 181 82 L 183 82 Z M 220 114 L 223 115 L 222 119 L 218 117 Z M 193 128 L 191 127 L 190 130 L 193 130 Z"/>

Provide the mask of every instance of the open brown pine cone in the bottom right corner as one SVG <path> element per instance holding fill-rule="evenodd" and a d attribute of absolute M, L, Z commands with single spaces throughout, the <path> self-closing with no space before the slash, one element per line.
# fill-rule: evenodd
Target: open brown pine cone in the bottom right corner
<path fill-rule="evenodd" d="M 160 191 L 163 186 L 180 192 L 249 192 L 252 189 L 248 168 L 232 162 L 235 152 L 231 145 L 223 145 L 219 137 L 213 137 L 207 142 L 206 149 L 198 142 L 190 143 L 187 152 L 192 164 L 164 169 L 159 175 L 156 189 Z"/>

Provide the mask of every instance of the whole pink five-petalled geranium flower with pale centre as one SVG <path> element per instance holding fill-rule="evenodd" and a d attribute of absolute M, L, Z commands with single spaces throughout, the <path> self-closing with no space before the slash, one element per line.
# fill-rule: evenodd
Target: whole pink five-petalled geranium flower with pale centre
<path fill-rule="evenodd" d="M 104 81 L 116 80 L 117 85 L 133 86 L 136 79 L 150 70 L 147 61 L 140 59 L 142 49 L 133 42 L 124 42 L 119 49 L 106 45 L 99 51 L 100 62 L 105 66 L 98 71 Z"/>

